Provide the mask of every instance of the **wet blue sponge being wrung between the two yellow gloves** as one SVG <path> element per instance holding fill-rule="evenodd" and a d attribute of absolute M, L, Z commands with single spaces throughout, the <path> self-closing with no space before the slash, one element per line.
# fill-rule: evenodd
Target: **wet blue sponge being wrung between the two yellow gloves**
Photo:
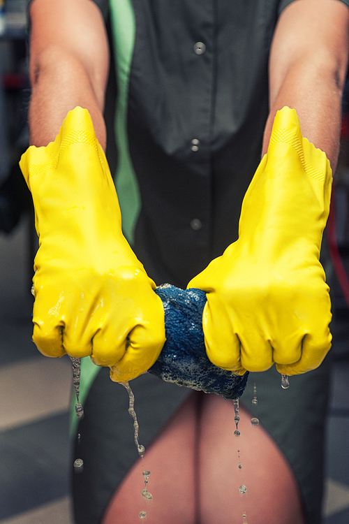
<path fill-rule="evenodd" d="M 156 289 L 165 310 L 166 342 L 149 373 L 179 386 L 239 398 L 246 387 L 242 377 L 222 370 L 207 358 L 202 311 L 206 293 L 200 289 L 179 289 L 165 284 Z"/>

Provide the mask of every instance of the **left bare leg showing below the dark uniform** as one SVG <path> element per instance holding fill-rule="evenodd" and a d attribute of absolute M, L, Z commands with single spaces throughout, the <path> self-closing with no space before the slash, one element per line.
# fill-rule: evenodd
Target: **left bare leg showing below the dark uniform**
<path fill-rule="evenodd" d="M 193 393 L 174 415 L 154 443 L 137 461 L 112 498 L 103 524 L 142 523 L 140 511 L 147 511 L 151 524 L 195 524 L 195 440 L 197 438 L 198 393 Z M 142 471 L 149 470 L 147 501 L 140 492 L 144 488 Z"/>

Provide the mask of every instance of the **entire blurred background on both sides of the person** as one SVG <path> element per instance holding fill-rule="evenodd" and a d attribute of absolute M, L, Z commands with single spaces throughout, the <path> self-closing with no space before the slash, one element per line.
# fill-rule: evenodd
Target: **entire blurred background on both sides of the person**
<path fill-rule="evenodd" d="M 29 141 L 25 4 L 0 0 L 0 524 L 72 524 L 70 361 L 45 358 L 31 342 L 37 238 L 31 196 L 18 167 Z M 334 314 L 324 524 L 349 522 L 348 85 L 322 259 Z"/>

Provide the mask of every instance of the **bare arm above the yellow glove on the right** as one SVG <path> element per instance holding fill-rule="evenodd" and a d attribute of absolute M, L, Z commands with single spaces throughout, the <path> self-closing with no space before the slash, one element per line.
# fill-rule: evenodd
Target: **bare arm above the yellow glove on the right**
<path fill-rule="evenodd" d="M 349 9 L 340 0 L 296 0 L 283 10 L 269 62 L 267 151 L 276 111 L 297 110 L 302 134 L 336 168 L 348 61 Z"/>

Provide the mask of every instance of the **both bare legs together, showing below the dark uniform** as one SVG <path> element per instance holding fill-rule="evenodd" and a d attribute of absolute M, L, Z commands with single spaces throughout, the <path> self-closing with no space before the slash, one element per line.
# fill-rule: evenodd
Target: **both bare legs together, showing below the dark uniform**
<path fill-rule="evenodd" d="M 304 524 L 285 458 L 242 408 L 240 417 L 234 437 L 232 402 L 193 393 L 121 483 L 103 524 L 142 522 L 140 511 L 151 524 L 242 524 L 243 512 L 249 524 Z M 150 503 L 140 495 L 142 470 L 151 471 Z"/>

